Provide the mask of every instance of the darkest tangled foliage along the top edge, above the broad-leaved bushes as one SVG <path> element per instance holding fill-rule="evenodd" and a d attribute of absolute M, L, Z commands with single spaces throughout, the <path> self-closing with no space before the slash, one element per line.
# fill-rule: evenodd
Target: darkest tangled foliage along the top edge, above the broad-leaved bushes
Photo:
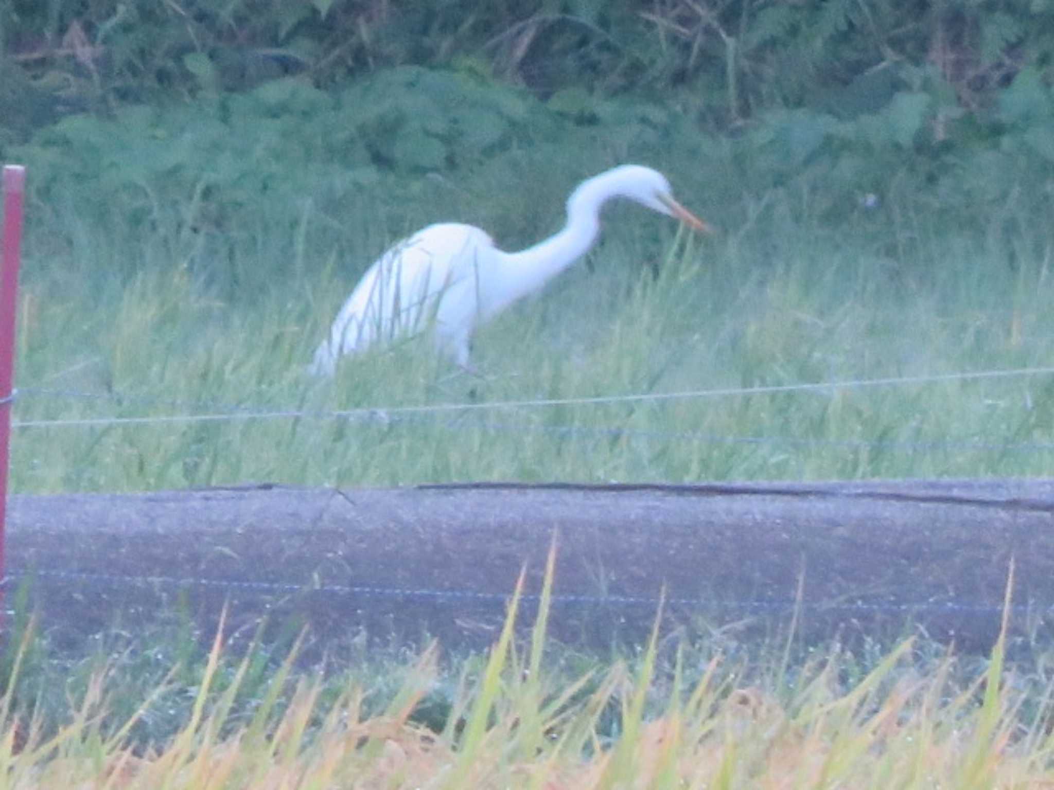
<path fill-rule="evenodd" d="M 774 106 L 875 112 L 929 70 L 983 114 L 1022 68 L 1047 77 L 1045 0 L 4 0 L 0 47 L 56 103 L 109 106 L 316 86 L 393 65 L 457 65 L 526 85 L 610 95 L 680 88 L 703 119 Z M 3 53 L 0 53 L 2 55 Z M 672 98 L 672 97 L 670 97 Z M 2 101 L 2 98 L 0 98 Z"/>

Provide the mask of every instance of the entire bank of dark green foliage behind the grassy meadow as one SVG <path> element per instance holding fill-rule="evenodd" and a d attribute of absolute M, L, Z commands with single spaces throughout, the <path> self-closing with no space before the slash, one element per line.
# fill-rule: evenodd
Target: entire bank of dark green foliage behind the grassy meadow
<path fill-rule="evenodd" d="M 726 228 L 880 206 L 1046 243 L 1054 0 L 0 0 L 0 156 L 188 259 L 377 181 L 511 243 L 551 222 L 535 187 L 504 228 L 421 177 L 562 191 L 627 159 Z"/>

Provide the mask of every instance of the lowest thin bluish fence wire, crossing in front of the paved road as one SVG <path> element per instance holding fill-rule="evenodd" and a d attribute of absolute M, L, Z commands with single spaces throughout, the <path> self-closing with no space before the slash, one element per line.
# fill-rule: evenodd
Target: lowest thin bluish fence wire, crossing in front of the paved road
<path fill-rule="evenodd" d="M 475 590 L 433 590 L 403 587 L 378 587 L 356 585 L 296 585 L 282 581 L 247 581 L 238 579 L 195 578 L 163 575 L 120 575 L 109 573 L 86 573 L 81 571 L 28 571 L 21 569 L 8 570 L 0 579 L 0 588 L 12 587 L 22 579 L 57 579 L 61 581 L 81 581 L 84 584 L 103 585 L 112 589 L 120 587 L 165 586 L 173 588 L 219 588 L 232 592 L 249 591 L 281 595 L 310 594 L 335 595 L 346 597 L 396 598 L 408 600 L 432 600 L 437 603 L 477 601 L 481 604 L 504 605 L 512 598 L 511 593 L 479 592 Z M 521 600 L 536 603 L 541 594 L 523 593 Z M 617 607 L 651 607 L 660 605 L 677 606 L 687 609 L 714 610 L 735 609 L 739 611 L 786 612 L 802 609 L 814 612 L 837 612 L 841 614 L 853 612 L 871 613 L 911 613 L 911 612 L 958 612 L 963 614 L 991 615 L 1008 609 L 1004 601 L 972 603 L 954 600 L 922 600 L 922 601 L 807 601 L 795 598 L 783 599 L 717 599 L 717 598 L 678 598 L 648 597 L 636 595 L 584 595 L 559 594 L 550 596 L 553 606 L 617 606 Z M 1011 612 L 1029 612 L 1033 614 L 1054 613 L 1054 604 L 1011 604 Z"/>

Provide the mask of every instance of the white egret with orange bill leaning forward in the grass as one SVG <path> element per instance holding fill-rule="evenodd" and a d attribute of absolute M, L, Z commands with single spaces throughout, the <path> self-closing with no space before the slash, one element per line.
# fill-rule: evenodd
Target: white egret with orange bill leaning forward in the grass
<path fill-rule="evenodd" d="M 311 372 L 331 376 L 337 359 L 431 328 L 441 350 L 471 370 L 475 328 L 518 299 L 539 291 L 592 246 L 601 206 L 624 197 L 697 231 L 707 224 L 678 203 L 657 171 L 624 164 L 583 181 L 567 200 L 560 233 L 519 253 L 494 246 L 484 231 L 433 224 L 390 250 L 367 270 L 344 303 Z"/>

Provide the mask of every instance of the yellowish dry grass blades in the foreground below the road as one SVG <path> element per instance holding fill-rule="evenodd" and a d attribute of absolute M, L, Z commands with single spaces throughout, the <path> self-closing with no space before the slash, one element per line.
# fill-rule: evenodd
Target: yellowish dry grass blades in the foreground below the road
<path fill-rule="evenodd" d="M 550 579 L 551 569 L 552 556 Z M 1002 637 L 988 670 L 958 689 L 949 683 L 951 657 L 928 676 L 905 666 L 911 640 L 847 690 L 836 682 L 837 656 L 780 693 L 736 687 L 720 659 L 688 678 L 680 654 L 672 679 L 660 684 L 658 629 L 636 671 L 618 664 L 599 676 L 553 687 L 540 671 L 548 590 L 529 645 L 518 650 L 518 586 L 476 687 L 455 702 L 442 732 L 411 720 L 436 678 L 434 646 L 419 656 L 388 708 L 372 715 L 364 713 L 366 689 L 350 686 L 324 703 L 319 680 L 293 683 L 290 656 L 274 679 L 275 689 L 292 686 L 280 713 L 275 691 L 259 700 L 248 724 L 233 726 L 228 714 L 245 665 L 222 693 L 210 692 L 222 647 L 217 636 L 186 727 L 145 751 L 134 751 L 128 734 L 150 700 L 117 732 L 100 732 L 104 674 L 70 723 L 46 737 L 38 719 L 9 711 L 5 697 L 0 787 L 1054 788 L 1050 705 L 1046 696 L 1014 696 Z M 1026 702 L 1033 703 L 1028 716 L 1021 712 Z"/>

